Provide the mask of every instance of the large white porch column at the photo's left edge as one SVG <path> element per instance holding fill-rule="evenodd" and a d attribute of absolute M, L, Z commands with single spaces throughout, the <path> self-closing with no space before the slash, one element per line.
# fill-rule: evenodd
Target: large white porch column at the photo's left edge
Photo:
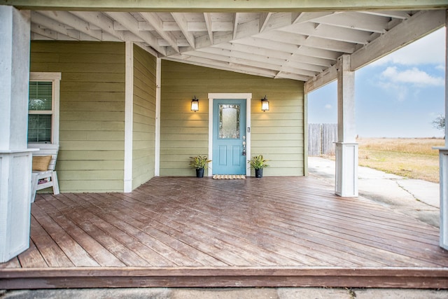
<path fill-rule="evenodd" d="M 29 11 L 0 6 L 0 263 L 29 247 Z"/>

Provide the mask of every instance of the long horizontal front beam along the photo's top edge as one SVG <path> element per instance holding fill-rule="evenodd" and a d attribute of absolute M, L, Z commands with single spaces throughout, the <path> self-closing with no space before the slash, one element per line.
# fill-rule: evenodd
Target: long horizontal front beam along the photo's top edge
<path fill-rule="evenodd" d="M 279 1 L 279 0 L 153 0 L 153 1 L 45 1 L 0 0 L 0 5 L 12 5 L 21 9 L 46 9 L 52 11 L 153 11 L 153 12 L 251 12 L 251 11 L 402 11 L 445 8 L 445 0 L 339 0 L 339 1 Z"/>

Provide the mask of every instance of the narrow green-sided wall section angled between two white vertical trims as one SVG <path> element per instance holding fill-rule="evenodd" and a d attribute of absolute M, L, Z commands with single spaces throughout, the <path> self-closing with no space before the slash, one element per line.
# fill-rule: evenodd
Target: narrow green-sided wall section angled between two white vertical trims
<path fill-rule="evenodd" d="M 132 188 L 154 176 L 156 58 L 134 46 Z"/>

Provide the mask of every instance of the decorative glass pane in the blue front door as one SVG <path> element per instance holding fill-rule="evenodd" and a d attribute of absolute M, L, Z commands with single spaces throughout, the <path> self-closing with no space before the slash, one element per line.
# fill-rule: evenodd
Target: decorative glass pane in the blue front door
<path fill-rule="evenodd" d="M 219 105 L 219 139 L 239 139 L 239 104 Z"/>

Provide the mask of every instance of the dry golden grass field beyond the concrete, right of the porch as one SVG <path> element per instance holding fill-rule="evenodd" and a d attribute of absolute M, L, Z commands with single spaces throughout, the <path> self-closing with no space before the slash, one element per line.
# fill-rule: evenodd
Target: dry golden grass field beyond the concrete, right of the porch
<path fill-rule="evenodd" d="M 443 139 L 358 138 L 359 165 L 405 176 L 439 182 L 439 151 Z"/>

